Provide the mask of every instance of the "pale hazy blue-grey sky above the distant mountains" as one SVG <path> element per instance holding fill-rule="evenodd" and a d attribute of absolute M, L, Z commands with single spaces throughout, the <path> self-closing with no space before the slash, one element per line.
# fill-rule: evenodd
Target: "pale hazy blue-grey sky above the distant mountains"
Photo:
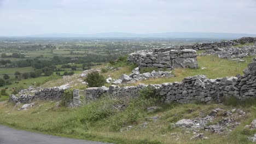
<path fill-rule="evenodd" d="M 256 0 L 0 0 L 0 35 L 256 34 Z"/>

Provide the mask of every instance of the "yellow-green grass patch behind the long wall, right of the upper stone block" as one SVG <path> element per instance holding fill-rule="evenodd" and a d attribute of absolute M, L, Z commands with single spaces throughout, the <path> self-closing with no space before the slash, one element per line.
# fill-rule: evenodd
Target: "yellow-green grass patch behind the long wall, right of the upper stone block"
<path fill-rule="evenodd" d="M 243 74 L 243 70 L 247 68 L 247 64 L 252 62 L 253 57 L 242 58 L 246 62 L 238 63 L 229 59 L 220 59 L 217 56 L 197 56 L 199 68 L 197 69 L 174 69 L 174 77 L 163 77 L 158 79 L 148 79 L 129 83 L 129 85 L 138 85 L 139 83 L 145 84 L 160 84 L 164 82 L 180 82 L 184 77 L 204 74 L 208 79 L 216 79 L 217 77 L 236 76 Z M 201 69 L 206 68 L 206 69 Z M 115 74 L 113 74 L 115 75 Z"/>

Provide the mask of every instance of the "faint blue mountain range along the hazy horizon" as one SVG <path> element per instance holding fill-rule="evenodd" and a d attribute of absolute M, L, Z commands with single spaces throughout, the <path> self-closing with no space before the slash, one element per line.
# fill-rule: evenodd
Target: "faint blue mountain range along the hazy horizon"
<path fill-rule="evenodd" d="M 256 34 L 246 33 L 202 33 L 202 32 L 171 32 L 171 33 L 96 33 L 96 34 L 38 34 L 25 37 L 39 38 L 213 38 L 213 39 L 237 39 L 241 37 L 256 37 Z"/>

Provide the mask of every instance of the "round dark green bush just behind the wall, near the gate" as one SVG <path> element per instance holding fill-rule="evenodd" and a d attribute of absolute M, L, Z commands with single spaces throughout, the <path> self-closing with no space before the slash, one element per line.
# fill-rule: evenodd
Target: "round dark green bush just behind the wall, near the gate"
<path fill-rule="evenodd" d="M 98 71 L 89 73 L 85 81 L 88 83 L 89 87 L 101 87 L 106 83 L 104 76 L 100 75 Z"/>

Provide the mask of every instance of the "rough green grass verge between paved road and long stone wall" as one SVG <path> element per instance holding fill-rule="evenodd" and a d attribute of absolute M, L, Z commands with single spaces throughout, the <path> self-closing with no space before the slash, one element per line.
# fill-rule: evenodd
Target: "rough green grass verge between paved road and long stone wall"
<path fill-rule="evenodd" d="M 126 104 L 124 110 L 112 107 L 116 104 Z M 14 105 L 0 104 L 0 124 L 10 127 L 36 131 L 40 133 L 67 136 L 113 143 L 250 143 L 243 127 L 251 123 L 256 117 L 256 107 L 242 107 L 246 116 L 241 118 L 241 124 L 228 136 L 206 133 L 209 140 L 190 140 L 192 133 L 185 133 L 185 129 L 171 128 L 170 124 L 182 118 L 206 116 L 217 107 L 230 110 L 233 106 L 218 104 L 161 104 L 154 99 L 100 99 L 89 105 L 68 109 L 55 107 L 54 102 L 36 101 L 36 106 L 27 111 L 18 111 Z M 148 113 L 147 106 L 161 106 L 157 112 Z M 104 108 L 104 109 L 103 109 Z M 238 108 L 238 107 L 237 107 Z M 108 114 L 108 115 L 106 115 Z M 146 117 L 159 116 L 158 121 L 147 120 Z M 147 122 L 147 127 L 140 128 Z M 132 125 L 130 130 L 126 129 Z M 178 140 L 172 133 L 181 133 Z"/>

